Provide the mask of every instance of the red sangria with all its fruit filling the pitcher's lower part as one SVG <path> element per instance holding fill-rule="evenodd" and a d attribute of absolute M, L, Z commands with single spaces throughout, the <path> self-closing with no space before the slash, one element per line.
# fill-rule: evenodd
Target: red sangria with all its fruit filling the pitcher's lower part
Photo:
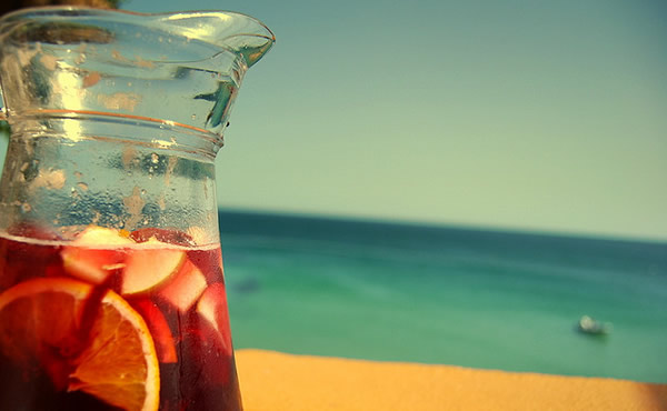
<path fill-rule="evenodd" d="M 0 409 L 240 410 L 220 248 L 187 239 L 0 233 Z"/>

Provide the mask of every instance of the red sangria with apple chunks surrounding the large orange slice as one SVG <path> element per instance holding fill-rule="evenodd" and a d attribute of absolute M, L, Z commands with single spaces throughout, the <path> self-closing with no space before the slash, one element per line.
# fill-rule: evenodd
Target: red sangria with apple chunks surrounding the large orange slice
<path fill-rule="evenodd" d="M 160 242 L 100 249 L 0 235 L 0 298 L 12 292 L 17 284 L 36 279 L 68 278 L 90 283 L 92 287 L 86 288 L 90 292 L 83 300 L 77 327 L 70 332 L 72 341 L 76 340 L 71 344 L 76 354 L 78 347 L 91 338 L 89 333 L 100 301 L 111 290 L 141 315 L 152 337 L 159 361 L 159 410 L 240 410 L 219 245 L 182 247 L 187 235 L 169 235 L 166 231 L 136 232 L 131 238 L 138 242 L 149 238 Z M 141 263 L 143 255 L 148 255 L 147 250 L 159 255 L 153 259 L 155 263 L 153 260 L 150 264 Z M 148 281 L 151 287 L 146 290 L 128 291 L 130 264 L 139 268 L 137 272 L 150 271 L 153 267 L 159 271 L 160 263 L 169 258 L 178 262 L 173 272 L 157 275 L 156 284 Z M 89 264 L 81 269 L 81 261 Z M 100 267 L 96 267 L 98 262 Z M 93 267 L 92 271 L 86 271 L 89 267 Z M 101 271 L 94 271 L 97 269 Z M 98 278 L 98 272 L 104 275 Z M 2 328 L 0 323 L 0 335 Z M 66 355 L 62 347 L 59 353 L 42 355 L 26 367 L 1 345 L 2 341 L 0 410 L 120 409 L 79 390 L 68 392 L 69 374 L 61 372 L 62 364 L 67 363 L 61 357 Z"/>

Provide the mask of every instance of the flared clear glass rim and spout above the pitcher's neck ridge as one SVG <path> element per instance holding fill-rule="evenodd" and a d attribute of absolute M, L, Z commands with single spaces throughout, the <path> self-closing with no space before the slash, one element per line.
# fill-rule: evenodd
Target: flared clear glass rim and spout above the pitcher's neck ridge
<path fill-rule="evenodd" d="M 24 9 L 0 19 L 3 110 L 32 133 L 59 128 L 84 138 L 82 123 L 64 122 L 121 117 L 219 147 L 246 70 L 275 41 L 236 12 Z"/>

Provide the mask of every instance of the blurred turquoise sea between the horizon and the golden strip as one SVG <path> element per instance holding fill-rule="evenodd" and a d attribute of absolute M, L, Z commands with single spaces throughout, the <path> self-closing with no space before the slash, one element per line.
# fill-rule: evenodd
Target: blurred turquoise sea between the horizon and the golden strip
<path fill-rule="evenodd" d="M 667 382 L 667 243 L 221 212 L 236 348 Z M 584 314 L 607 337 L 576 330 Z"/>

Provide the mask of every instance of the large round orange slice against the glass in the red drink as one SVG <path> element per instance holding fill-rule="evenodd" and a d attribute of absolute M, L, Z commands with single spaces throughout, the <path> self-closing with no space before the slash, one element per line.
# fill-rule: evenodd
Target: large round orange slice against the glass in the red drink
<path fill-rule="evenodd" d="M 57 388 L 128 411 L 157 410 L 159 365 L 146 322 L 112 291 L 91 305 L 96 291 L 66 278 L 29 280 L 4 291 L 0 349 L 27 372 L 30 364 L 41 367 Z M 84 323 L 88 341 L 76 337 Z"/>

